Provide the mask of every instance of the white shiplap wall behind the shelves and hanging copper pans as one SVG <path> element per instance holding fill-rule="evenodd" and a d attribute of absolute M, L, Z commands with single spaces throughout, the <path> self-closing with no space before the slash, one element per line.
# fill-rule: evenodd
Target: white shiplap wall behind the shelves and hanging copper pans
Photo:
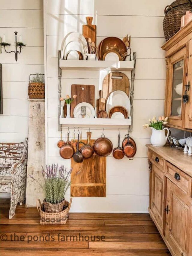
<path fill-rule="evenodd" d="M 45 1 L 45 0 L 44 0 Z M 65 164 L 70 160 L 59 156 L 58 132 L 58 61 L 57 51 L 68 32 L 82 32 L 86 16 L 93 16 L 97 25 L 97 43 L 107 36 L 123 38 L 131 34 L 132 51 L 137 52 L 136 80 L 134 91 L 134 126 L 131 136 L 137 143 L 133 161 L 127 158 L 116 160 L 107 157 L 107 195 L 101 197 L 73 198 L 73 212 L 147 212 L 149 200 L 149 172 L 146 143 L 150 131 L 142 125 L 149 117 L 164 113 L 166 65 L 161 45 L 164 43 L 162 21 L 164 7 L 170 0 L 46 0 L 44 14 L 46 30 L 47 65 L 47 163 Z M 130 73 L 126 73 L 130 78 Z M 102 79 L 95 71 L 62 71 L 62 96 L 70 94 L 71 84 L 94 84 L 98 98 Z M 72 136 L 72 129 L 70 130 Z M 101 130 L 91 129 L 92 138 L 101 135 Z M 66 137 L 67 130 L 63 134 Z M 113 145 L 117 145 L 116 130 L 105 130 Z M 123 139 L 126 131 L 121 131 Z M 86 130 L 82 130 L 86 137 Z M 70 191 L 67 192 L 69 198 Z"/>

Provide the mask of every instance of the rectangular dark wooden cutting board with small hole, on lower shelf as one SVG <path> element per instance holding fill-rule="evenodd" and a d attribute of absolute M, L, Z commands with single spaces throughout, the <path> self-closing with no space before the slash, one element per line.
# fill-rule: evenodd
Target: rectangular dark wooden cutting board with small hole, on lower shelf
<path fill-rule="evenodd" d="M 71 117 L 75 106 L 81 102 L 87 102 L 95 108 L 95 85 L 71 85 L 71 97 L 76 94 L 77 97 L 71 102 Z"/>

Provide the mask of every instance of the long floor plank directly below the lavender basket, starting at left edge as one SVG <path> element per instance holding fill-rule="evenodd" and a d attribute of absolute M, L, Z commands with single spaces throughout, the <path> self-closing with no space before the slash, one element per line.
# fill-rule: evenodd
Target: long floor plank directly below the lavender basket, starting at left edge
<path fill-rule="evenodd" d="M 1 232 L 30 232 L 47 233 L 54 229 L 54 232 L 76 231 L 76 232 L 95 232 L 95 233 L 146 233 L 143 226 L 121 226 L 121 225 L 16 225 L 2 224 Z"/>

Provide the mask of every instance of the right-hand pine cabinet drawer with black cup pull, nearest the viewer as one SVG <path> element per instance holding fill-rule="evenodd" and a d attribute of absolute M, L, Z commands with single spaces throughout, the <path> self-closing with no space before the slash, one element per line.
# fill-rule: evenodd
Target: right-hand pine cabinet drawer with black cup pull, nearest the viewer
<path fill-rule="evenodd" d="M 191 197 L 192 178 L 169 162 L 165 162 L 165 176 Z"/>

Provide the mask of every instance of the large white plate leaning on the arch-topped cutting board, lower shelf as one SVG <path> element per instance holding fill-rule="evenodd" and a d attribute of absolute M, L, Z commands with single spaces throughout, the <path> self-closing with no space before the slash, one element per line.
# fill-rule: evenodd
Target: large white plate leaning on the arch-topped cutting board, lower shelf
<path fill-rule="evenodd" d="M 131 112 L 131 103 L 127 94 L 123 91 L 114 91 L 107 98 L 106 102 L 106 111 L 109 113 L 109 110 L 115 106 L 125 107 L 130 115 Z"/>

